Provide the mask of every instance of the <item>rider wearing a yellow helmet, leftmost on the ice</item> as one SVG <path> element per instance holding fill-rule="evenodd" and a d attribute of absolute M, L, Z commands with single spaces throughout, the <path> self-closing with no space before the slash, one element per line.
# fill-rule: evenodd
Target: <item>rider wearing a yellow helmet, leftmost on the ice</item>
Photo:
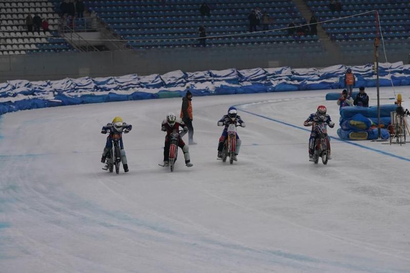
<path fill-rule="evenodd" d="M 103 129 L 101 129 L 101 133 L 106 134 L 107 132 L 109 132 L 110 134 L 107 137 L 107 143 L 103 151 L 103 157 L 101 157 L 102 163 L 106 163 L 107 154 L 112 148 L 113 138 L 119 138 L 122 166 L 124 167 L 124 171 L 128 172 L 127 156 L 125 155 L 124 145 L 122 144 L 122 132 L 128 133 L 129 131 L 131 131 L 131 129 L 132 125 L 122 121 L 121 117 L 115 117 L 112 120 L 112 123 L 107 123 L 106 126 L 103 126 Z"/>

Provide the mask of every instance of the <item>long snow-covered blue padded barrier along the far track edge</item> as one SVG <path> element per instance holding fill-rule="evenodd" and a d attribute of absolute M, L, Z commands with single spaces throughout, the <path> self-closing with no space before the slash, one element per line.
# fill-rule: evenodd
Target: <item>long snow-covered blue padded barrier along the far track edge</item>
<path fill-rule="evenodd" d="M 410 65 L 380 64 L 380 85 L 410 85 Z M 163 75 L 136 74 L 107 78 L 79 78 L 57 81 L 12 80 L 0 83 L 0 114 L 32 108 L 124 100 L 180 97 L 190 89 L 194 96 L 228 95 L 294 90 L 340 89 L 345 65 L 324 69 L 228 69 Z M 356 86 L 376 86 L 372 64 L 353 66 Z"/>

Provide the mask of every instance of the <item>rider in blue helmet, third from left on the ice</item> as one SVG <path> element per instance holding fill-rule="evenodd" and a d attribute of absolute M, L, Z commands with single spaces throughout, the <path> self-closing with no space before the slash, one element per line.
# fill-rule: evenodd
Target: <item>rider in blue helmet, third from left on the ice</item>
<path fill-rule="evenodd" d="M 238 116 L 238 110 L 231 106 L 228 109 L 227 115 L 223 115 L 223 117 L 218 121 L 218 126 L 224 126 L 222 135 L 219 138 L 218 144 L 218 158 L 222 158 L 222 149 L 223 143 L 225 139 L 228 137 L 228 127 L 230 124 L 239 124 L 237 126 L 245 127 L 245 122 Z M 238 134 L 236 134 L 236 154 L 234 155 L 234 161 L 238 161 L 236 156 L 239 154 L 241 140 L 239 139 Z"/>

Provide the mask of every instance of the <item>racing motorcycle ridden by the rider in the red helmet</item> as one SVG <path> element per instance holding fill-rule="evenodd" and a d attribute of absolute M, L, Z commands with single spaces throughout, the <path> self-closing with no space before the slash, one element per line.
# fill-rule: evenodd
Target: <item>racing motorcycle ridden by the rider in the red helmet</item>
<path fill-rule="evenodd" d="M 318 134 L 315 140 L 313 162 L 317 164 L 319 157 L 322 157 L 322 162 L 326 165 L 330 157 L 330 139 L 327 136 L 327 124 L 325 122 L 315 122 L 313 126 Z"/>

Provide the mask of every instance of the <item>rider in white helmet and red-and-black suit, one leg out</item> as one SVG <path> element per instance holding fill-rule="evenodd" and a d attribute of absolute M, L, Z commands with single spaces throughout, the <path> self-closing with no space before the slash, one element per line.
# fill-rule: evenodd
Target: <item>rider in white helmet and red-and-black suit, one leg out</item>
<path fill-rule="evenodd" d="M 167 135 L 165 137 L 165 145 L 163 147 L 163 165 L 164 166 L 169 166 L 169 153 L 170 153 L 170 134 L 173 131 L 178 131 L 179 127 L 181 127 L 184 131 L 183 134 L 188 132 L 188 127 L 185 126 L 185 124 L 176 119 L 176 116 L 174 113 L 170 112 L 167 115 L 167 118 L 162 121 L 161 124 L 161 130 L 167 132 Z M 189 156 L 189 147 L 188 145 L 185 144 L 182 140 L 182 135 L 179 135 L 178 139 L 178 147 L 182 149 L 183 156 L 185 157 L 185 164 L 187 167 L 192 167 L 193 164 L 191 163 L 191 158 Z"/>

